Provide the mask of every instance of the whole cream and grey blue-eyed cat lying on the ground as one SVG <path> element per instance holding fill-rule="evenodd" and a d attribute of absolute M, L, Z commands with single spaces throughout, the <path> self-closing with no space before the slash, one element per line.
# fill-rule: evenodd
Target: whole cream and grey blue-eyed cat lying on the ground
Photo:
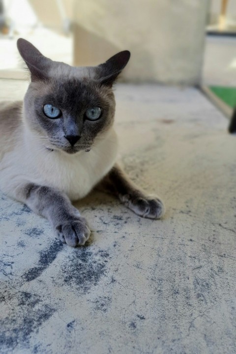
<path fill-rule="evenodd" d="M 0 189 L 46 217 L 71 247 L 89 239 L 88 223 L 72 205 L 94 187 L 113 193 L 136 214 L 158 219 L 163 202 L 141 191 L 116 163 L 113 84 L 125 50 L 95 67 L 71 67 L 43 56 L 20 38 L 30 73 L 24 102 L 0 109 Z"/>

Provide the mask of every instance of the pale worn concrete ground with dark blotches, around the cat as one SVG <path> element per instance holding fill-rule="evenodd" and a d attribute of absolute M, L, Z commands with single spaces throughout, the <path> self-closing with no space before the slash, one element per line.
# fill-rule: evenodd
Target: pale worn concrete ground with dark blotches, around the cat
<path fill-rule="evenodd" d="M 26 84 L 2 81 L 1 98 Z M 236 136 L 195 89 L 119 85 L 130 176 L 166 204 L 141 219 L 112 197 L 78 203 L 86 247 L 0 200 L 1 354 L 236 353 Z"/>

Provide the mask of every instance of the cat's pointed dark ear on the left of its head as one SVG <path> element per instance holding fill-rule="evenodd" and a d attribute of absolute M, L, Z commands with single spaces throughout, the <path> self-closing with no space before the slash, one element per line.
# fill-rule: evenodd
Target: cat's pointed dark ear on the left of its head
<path fill-rule="evenodd" d="M 42 55 L 26 39 L 19 38 L 17 40 L 17 48 L 29 68 L 31 81 L 45 79 L 53 61 Z"/>

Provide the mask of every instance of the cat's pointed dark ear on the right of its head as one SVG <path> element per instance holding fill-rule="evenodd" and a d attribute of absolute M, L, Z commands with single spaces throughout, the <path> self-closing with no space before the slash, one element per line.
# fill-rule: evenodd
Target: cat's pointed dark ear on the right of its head
<path fill-rule="evenodd" d="M 124 69 L 130 58 L 130 52 L 123 50 L 108 59 L 106 63 L 98 65 L 99 82 L 112 86 L 118 74 Z"/>

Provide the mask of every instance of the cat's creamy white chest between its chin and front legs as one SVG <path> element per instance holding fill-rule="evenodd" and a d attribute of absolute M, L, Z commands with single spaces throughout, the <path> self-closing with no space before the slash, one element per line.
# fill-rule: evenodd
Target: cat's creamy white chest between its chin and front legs
<path fill-rule="evenodd" d="M 59 156 L 57 152 L 48 152 L 40 177 L 72 201 L 83 198 L 115 164 L 117 150 L 117 137 L 112 132 L 109 139 L 101 140 L 89 152 Z"/>

